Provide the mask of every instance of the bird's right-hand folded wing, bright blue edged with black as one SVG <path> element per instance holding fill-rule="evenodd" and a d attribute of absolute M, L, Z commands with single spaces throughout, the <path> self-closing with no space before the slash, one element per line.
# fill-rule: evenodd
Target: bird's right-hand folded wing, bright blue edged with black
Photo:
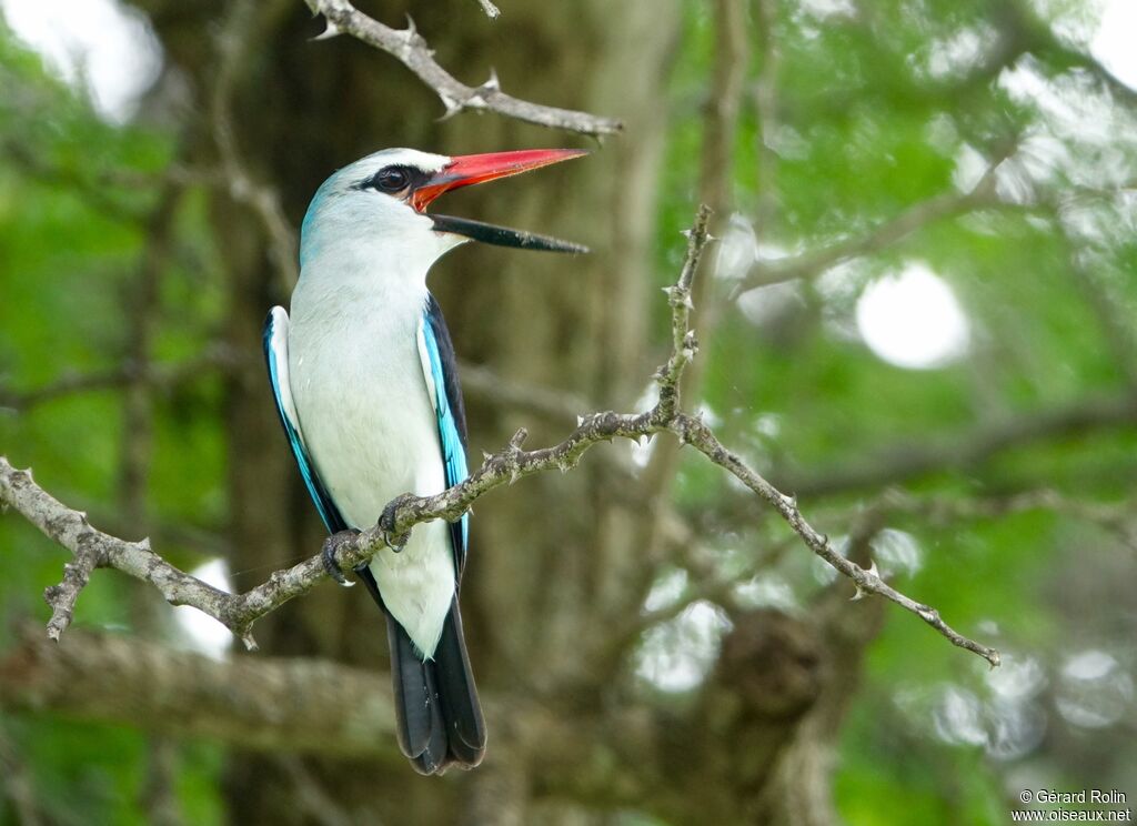
<path fill-rule="evenodd" d="M 462 386 L 458 384 L 458 368 L 450 331 L 446 328 L 446 320 L 442 318 L 442 309 L 438 306 L 438 301 L 429 293 L 426 309 L 418 327 L 418 348 L 423 374 L 438 419 L 438 440 L 442 449 L 446 486 L 451 487 L 470 475 L 466 467 L 466 410 L 462 403 Z M 454 567 L 459 578 L 466 564 L 468 540 L 470 515 L 463 514 L 458 522 L 450 525 Z"/>

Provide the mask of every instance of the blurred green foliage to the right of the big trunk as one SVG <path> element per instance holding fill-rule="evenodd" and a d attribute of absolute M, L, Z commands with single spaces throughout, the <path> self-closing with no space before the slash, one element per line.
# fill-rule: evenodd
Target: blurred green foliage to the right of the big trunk
<path fill-rule="evenodd" d="M 779 472 L 814 479 L 829 468 L 873 457 L 887 462 L 897 451 L 945 440 L 968 445 L 969 434 L 991 422 L 1130 392 L 1126 359 L 1137 354 L 1131 349 L 1137 278 L 1132 234 L 1119 228 L 1130 228 L 1134 215 L 1131 194 L 1119 194 L 1118 187 L 1131 186 L 1132 178 L 1103 174 L 1099 159 L 1117 152 L 1124 158 L 1119 170 L 1131 175 L 1137 168 L 1132 103 L 1121 105 L 1093 83 L 1068 84 L 1056 55 L 1038 51 L 1016 66 L 1029 64 L 1028 70 L 1054 78 L 1046 92 L 1055 99 L 1081 95 L 1079 106 L 1097 123 L 1124 124 L 1103 149 L 1095 130 L 1082 135 L 1052 117 L 1049 101 L 1009 91 L 1014 84 L 1006 82 L 1007 73 L 976 85 L 969 73 L 980 70 L 978 61 L 957 60 L 944 77 L 921 70 L 937 43 L 961 31 L 996 36 L 995 6 L 898 1 L 823 14 L 810 8 L 844 5 L 777 3 L 767 36 L 777 50 L 781 124 L 760 136 L 754 107 L 744 107 L 735 167 L 735 198 L 744 216 L 753 220 L 763 198 L 775 205 L 770 220 L 755 227 L 766 255 L 857 237 L 961 191 L 961 158 L 972 151 L 991 162 L 1015 148 L 1035 165 L 1034 175 L 1006 170 L 999 193 L 1010 203 L 929 223 L 813 283 L 795 284 L 790 300 L 775 303 L 758 324 L 742 312 L 725 312 L 713 336 L 700 335 L 707 410 L 722 419 L 724 439 L 775 482 Z M 1094 20 L 1093 11 L 1077 3 L 1053 11 L 1065 22 Z M 661 205 L 661 285 L 674 272 L 672 239 L 689 222 L 696 197 L 698 168 L 689 159 L 698 152 L 698 101 L 715 59 L 707 8 L 689 6 L 686 31 L 697 42 L 687 45 L 677 69 Z M 750 82 L 757 84 L 770 53 L 757 39 L 752 49 L 758 53 Z M 1086 70 L 1074 74 L 1084 80 Z M 777 156 L 766 181 L 755 164 L 763 140 Z M 1048 140 L 1061 148 L 1044 151 Z M 1049 162 L 1039 161 L 1047 152 Z M 1016 174 L 1022 177 L 1014 181 Z M 1011 195 L 1015 184 L 1029 194 Z M 1095 283 L 1087 284 L 1086 272 L 1078 269 L 1086 260 L 1082 269 Z M 885 364 L 849 332 L 856 329 L 863 289 L 911 262 L 949 284 L 970 324 L 966 358 L 940 369 Z M 780 289 L 764 290 L 769 302 L 780 301 L 774 294 Z M 1120 332 L 1111 327 L 1110 314 L 1121 320 Z M 664 322 L 659 316 L 661 335 Z M 1051 489 L 1107 503 L 1120 523 L 1131 524 L 1134 436 L 1131 420 L 1121 428 L 1072 425 L 1051 437 L 1024 439 L 962 472 L 920 474 L 906 486 L 918 497 L 960 503 Z M 723 501 L 736 498 L 717 468 L 688 460 L 680 500 L 695 518 L 721 511 Z M 872 500 L 871 490 L 855 487 L 802 504 L 839 537 Z M 1135 719 L 1137 603 L 1120 586 L 1095 585 L 1118 571 L 1137 573 L 1132 534 L 1045 509 L 947 525 L 897 515 L 888 524 L 908 532 L 919 549 L 915 573 L 897 581 L 906 593 L 1003 650 L 1009 668 L 1027 662 L 1044 676 L 1037 684 L 1012 678 L 996 689 L 985 664 L 936 644 L 912 617 L 888 611 L 843 729 L 837 795 L 847 821 L 1002 824 L 1016 806 L 1015 790 L 1031 783 L 1112 786 L 1132 794 L 1135 750 L 1124 731 Z M 747 548 L 767 547 L 783 535 L 783 526 L 766 524 L 724 535 L 721 549 L 746 556 Z M 812 560 L 792 552 L 769 571 L 790 583 L 800 610 L 820 587 L 816 574 Z M 1079 728 L 1060 712 L 1063 691 L 1072 691 L 1072 658 L 1087 649 L 1115 658 L 1124 696 L 1123 711 L 1098 729 Z M 966 701 L 946 701 L 952 691 Z M 1080 701 L 1094 703 L 1094 691 Z M 904 696 L 913 694 L 922 698 L 922 714 L 905 715 Z M 1071 758 L 1064 753 L 1070 740 L 1111 758 Z"/>

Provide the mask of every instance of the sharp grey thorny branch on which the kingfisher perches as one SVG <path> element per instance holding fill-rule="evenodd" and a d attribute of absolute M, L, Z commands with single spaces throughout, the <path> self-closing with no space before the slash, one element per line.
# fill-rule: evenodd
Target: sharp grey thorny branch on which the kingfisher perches
<path fill-rule="evenodd" d="M 695 357 L 697 343 L 688 328 L 691 310 L 691 284 L 703 250 L 709 240 L 707 223 L 711 210 L 702 207 L 695 226 L 688 233 L 687 258 L 678 283 L 667 290 L 672 314 L 672 350 L 658 372 L 658 402 L 644 412 L 596 412 L 580 419 L 578 427 L 561 442 L 549 448 L 524 450 L 524 428 L 509 440 L 503 450 L 485 457 L 482 466 L 462 484 L 433 497 L 404 494 L 392 502 L 389 524 L 377 524 L 357 536 L 337 545 L 337 560 L 343 569 L 365 564 L 389 547 L 400 547 L 410 529 L 433 519 L 454 522 L 489 491 L 513 484 L 523 476 L 551 470 L 567 472 L 595 444 L 614 437 L 641 440 L 670 433 L 680 444 L 689 444 L 715 465 L 724 468 L 746 487 L 767 502 L 786 520 L 805 544 L 848 577 L 856 585 L 855 598 L 879 594 L 912 611 L 932 626 L 952 643 L 972 651 L 993 666 L 999 662 L 998 652 L 969 640 L 949 627 L 938 611 L 921 604 L 888 585 L 874 568 L 864 569 L 846 559 L 813 528 L 802 516 L 797 501 L 777 490 L 729 451 L 711 428 L 697 416 L 680 409 L 679 386 L 683 368 Z M 0 503 L 15 508 L 44 534 L 72 551 L 74 559 L 66 566 L 64 581 L 47 590 L 44 596 L 52 616 L 48 634 L 58 639 L 70 623 L 75 601 L 86 585 L 91 571 L 99 567 L 117 568 L 135 578 L 153 584 L 172 604 L 192 606 L 214 617 L 244 644 L 254 649 L 254 623 L 294 596 L 307 593 L 322 582 L 327 573 L 319 554 L 285 570 L 277 570 L 268 581 L 241 594 L 219 591 L 167 562 L 155 553 L 148 540 L 126 542 L 102 533 L 90 525 L 86 515 L 67 508 L 32 481 L 28 470 L 15 469 L 0 458 Z"/>

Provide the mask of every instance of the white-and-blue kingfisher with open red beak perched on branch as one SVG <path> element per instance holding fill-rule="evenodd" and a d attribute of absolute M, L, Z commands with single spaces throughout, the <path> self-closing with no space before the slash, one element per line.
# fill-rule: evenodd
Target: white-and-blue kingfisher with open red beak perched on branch
<path fill-rule="evenodd" d="M 400 494 L 464 481 L 466 416 L 454 345 L 426 274 L 468 241 L 587 252 L 567 241 L 429 214 L 445 192 L 576 158 L 575 149 L 443 156 L 385 149 L 332 174 L 300 230 L 291 312 L 274 307 L 263 344 L 281 424 L 316 509 L 337 537 L 367 528 Z M 485 753 L 458 608 L 468 514 L 416 526 L 355 569 L 387 617 L 396 733 L 420 774 L 473 768 Z M 381 523 L 382 524 L 382 523 Z"/>

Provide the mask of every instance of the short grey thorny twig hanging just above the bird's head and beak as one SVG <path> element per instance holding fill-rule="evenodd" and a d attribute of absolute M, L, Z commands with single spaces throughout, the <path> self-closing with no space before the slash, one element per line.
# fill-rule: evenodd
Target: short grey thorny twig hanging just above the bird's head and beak
<path fill-rule="evenodd" d="M 497 75 L 480 86 L 467 86 L 439 66 L 434 52 L 410 23 L 406 28 L 384 26 L 359 11 L 348 0 L 305 0 L 314 14 L 324 16 L 327 28 L 321 39 L 350 34 L 368 45 L 385 51 L 415 73 L 434 90 L 446 107 L 446 117 L 464 109 L 493 111 L 517 120 L 578 132 L 582 135 L 609 135 L 620 132 L 623 124 L 615 118 L 598 117 L 583 111 L 557 109 L 520 100 L 501 91 Z"/>

